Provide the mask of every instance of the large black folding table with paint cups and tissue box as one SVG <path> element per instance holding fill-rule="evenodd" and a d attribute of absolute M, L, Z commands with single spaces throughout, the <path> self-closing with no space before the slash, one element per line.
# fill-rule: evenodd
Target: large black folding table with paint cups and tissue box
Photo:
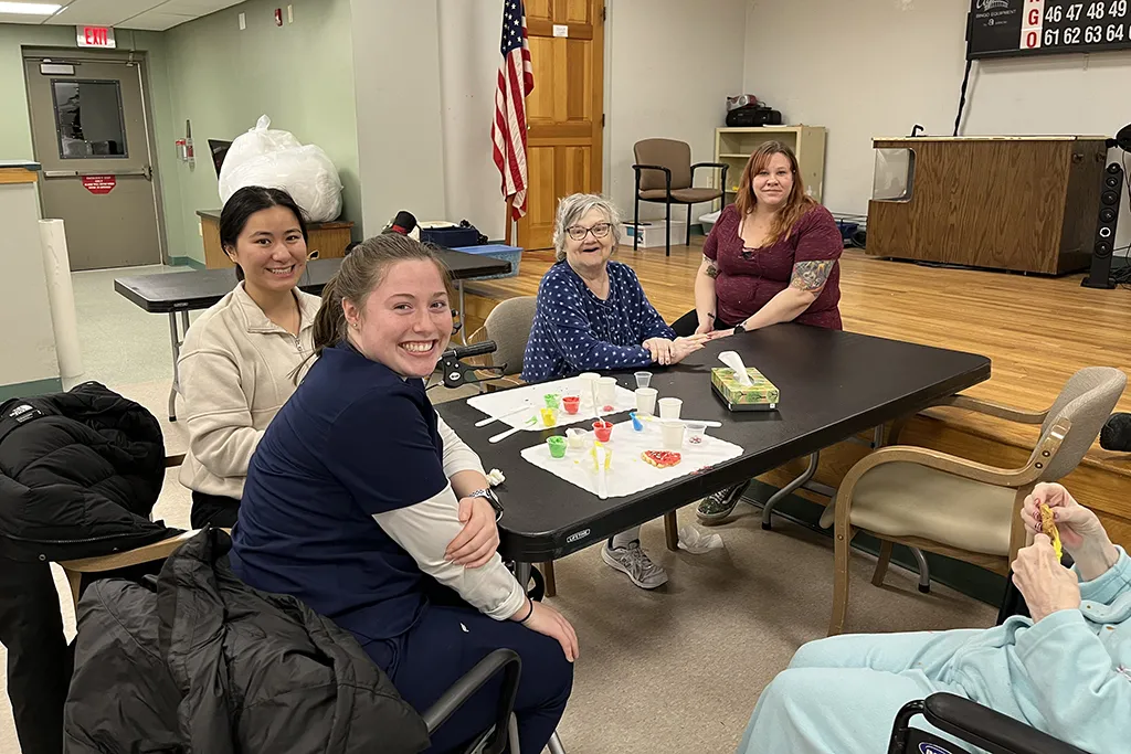
<path fill-rule="evenodd" d="M 737 352 L 782 391 L 778 409 L 731 413 L 710 389 L 717 355 Z M 739 458 L 628 497 L 601 500 L 524 460 L 524 448 L 562 431 L 519 432 L 498 444 L 487 437 L 506 425 L 476 427 L 484 415 L 466 400 L 437 410 L 483 460 L 507 480 L 499 487 L 503 515 L 500 552 L 523 564 L 562 557 L 645 521 L 670 513 L 728 485 L 882 425 L 990 378 L 990 359 L 898 340 L 800 324 L 778 324 L 708 344 L 682 364 L 655 367 L 651 387 L 683 400 L 682 416 L 714 419 L 708 434 L 743 449 Z M 618 383 L 634 389 L 631 374 Z M 624 421 L 627 415 L 611 417 Z M 579 425 L 584 426 L 584 425 Z M 615 450 L 615 449 L 614 449 Z"/>

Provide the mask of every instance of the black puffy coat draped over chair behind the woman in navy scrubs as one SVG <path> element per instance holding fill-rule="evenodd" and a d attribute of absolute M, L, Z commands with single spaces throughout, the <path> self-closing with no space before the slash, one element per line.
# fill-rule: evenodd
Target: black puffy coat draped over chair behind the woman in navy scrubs
<path fill-rule="evenodd" d="M 105 579 L 79 603 L 64 754 L 400 754 L 424 721 L 356 640 L 248 587 L 205 529 L 154 582 Z"/>

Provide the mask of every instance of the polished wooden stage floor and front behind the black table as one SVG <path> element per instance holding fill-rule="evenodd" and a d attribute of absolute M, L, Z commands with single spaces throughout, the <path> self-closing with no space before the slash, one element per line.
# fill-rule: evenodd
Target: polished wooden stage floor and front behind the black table
<path fill-rule="evenodd" d="M 693 306 L 700 254 L 694 244 L 673 246 L 671 258 L 663 249 L 633 252 L 622 246 L 613 259 L 636 270 L 648 298 L 674 321 Z M 472 330 L 495 302 L 535 295 L 552 263 L 553 252 L 526 252 L 517 277 L 468 283 L 468 294 L 474 294 L 467 302 Z M 846 250 L 840 266 L 845 329 L 993 359 L 993 376 L 968 395 L 1043 410 L 1082 366 L 1115 366 L 1131 374 L 1131 289 L 1082 288 L 1082 275 L 1048 278 L 921 267 L 872 259 L 858 250 Z M 1131 411 L 1131 393 L 1123 396 L 1117 410 Z M 905 440 L 913 436 L 920 444 L 988 463 L 1022 465 L 1037 436 L 1035 427 L 956 409 L 930 409 L 927 416 L 933 424 L 918 421 L 918 432 Z M 819 478 L 835 483 L 852 459 L 830 462 L 836 468 L 826 469 L 822 454 Z M 1081 502 L 1104 510 L 1119 539 L 1131 544 L 1131 454 L 1110 453 L 1097 443 L 1083 466 L 1065 484 L 1076 484 Z"/>

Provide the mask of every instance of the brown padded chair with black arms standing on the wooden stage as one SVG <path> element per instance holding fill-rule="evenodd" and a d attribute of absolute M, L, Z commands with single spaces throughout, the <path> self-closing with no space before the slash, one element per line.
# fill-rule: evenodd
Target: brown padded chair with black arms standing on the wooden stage
<path fill-rule="evenodd" d="M 691 164 L 691 147 L 685 141 L 673 139 L 645 139 L 632 147 L 636 164 L 636 201 L 632 213 L 633 226 L 640 225 L 640 202 L 658 201 L 667 207 L 666 255 L 672 255 L 672 205 L 688 206 L 688 228 L 685 244 L 691 244 L 691 205 L 715 201 L 723 198 L 722 187 L 726 185 L 724 163 Z M 717 189 L 696 189 L 696 170 L 714 167 L 723 171 Z M 632 249 L 638 249 L 640 236 L 632 234 Z"/>

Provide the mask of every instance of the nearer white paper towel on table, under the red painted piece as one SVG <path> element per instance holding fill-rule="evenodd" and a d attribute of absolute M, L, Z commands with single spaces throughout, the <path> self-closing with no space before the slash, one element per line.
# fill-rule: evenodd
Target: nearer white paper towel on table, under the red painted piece
<path fill-rule="evenodd" d="M 593 439 L 589 432 L 588 440 Z M 566 458 L 553 458 L 546 443 L 527 448 L 521 456 L 538 468 L 566 479 L 586 492 L 597 494 L 597 473 L 589 456 L 592 443 L 585 449 L 566 451 Z M 605 473 L 605 489 L 608 497 L 624 497 L 688 476 L 709 466 L 728 461 L 742 454 L 742 448 L 707 435 L 699 445 L 683 443 L 680 449 L 682 460 L 664 469 L 656 468 L 640 458 L 646 450 L 664 450 L 657 422 L 645 422 L 644 432 L 636 432 L 632 422 L 613 425 L 613 435 L 605 444 L 613 453 L 612 465 Z"/>

